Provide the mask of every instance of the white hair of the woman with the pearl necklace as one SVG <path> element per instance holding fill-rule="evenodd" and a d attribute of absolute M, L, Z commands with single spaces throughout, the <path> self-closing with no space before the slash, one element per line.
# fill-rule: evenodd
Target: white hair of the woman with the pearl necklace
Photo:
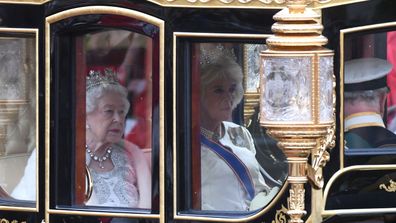
<path fill-rule="evenodd" d="M 98 107 L 98 102 L 101 97 L 108 93 L 117 93 L 122 96 L 124 101 L 125 111 L 129 110 L 130 103 L 127 99 L 128 91 L 120 84 L 99 84 L 87 90 L 86 93 L 86 113 L 95 111 Z"/>

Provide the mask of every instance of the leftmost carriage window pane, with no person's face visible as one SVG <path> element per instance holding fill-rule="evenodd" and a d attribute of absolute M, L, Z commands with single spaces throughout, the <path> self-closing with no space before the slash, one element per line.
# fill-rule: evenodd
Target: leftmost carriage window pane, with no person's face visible
<path fill-rule="evenodd" d="M 36 202 L 36 47 L 34 34 L 0 34 L 1 204 Z"/>

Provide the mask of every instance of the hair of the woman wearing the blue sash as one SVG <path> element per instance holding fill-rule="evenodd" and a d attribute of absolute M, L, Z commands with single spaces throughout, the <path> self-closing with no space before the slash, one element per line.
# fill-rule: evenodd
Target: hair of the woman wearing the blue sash
<path fill-rule="evenodd" d="M 206 88 L 215 80 L 229 79 L 237 83 L 232 100 L 234 109 L 243 98 L 243 74 L 241 66 L 232 58 L 222 57 L 208 64 L 204 64 L 201 69 L 201 98 L 205 98 Z"/>

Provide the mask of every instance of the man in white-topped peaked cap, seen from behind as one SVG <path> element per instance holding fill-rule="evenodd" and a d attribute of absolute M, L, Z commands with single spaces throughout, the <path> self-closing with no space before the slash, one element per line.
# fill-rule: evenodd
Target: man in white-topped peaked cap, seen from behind
<path fill-rule="evenodd" d="M 384 124 L 387 74 L 392 65 L 379 58 L 345 63 L 344 137 L 347 148 L 396 148 L 396 135 Z"/>

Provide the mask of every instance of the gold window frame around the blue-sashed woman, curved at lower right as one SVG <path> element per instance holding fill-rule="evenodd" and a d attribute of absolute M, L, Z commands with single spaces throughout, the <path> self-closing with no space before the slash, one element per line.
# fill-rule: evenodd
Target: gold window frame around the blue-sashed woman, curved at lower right
<path fill-rule="evenodd" d="M 286 178 L 281 185 L 279 191 L 277 194 L 272 198 L 270 203 L 268 203 L 266 206 L 263 208 L 260 208 L 255 211 L 247 211 L 247 212 L 235 212 L 233 213 L 232 211 L 216 211 L 216 212 L 211 212 L 211 211 L 205 211 L 205 210 L 182 210 L 179 206 L 180 204 L 178 203 L 180 196 L 189 196 L 189 193 L 185 193 L 183 195 L 180 195 L 181 189 L 178 188 L 178 186 L 181 184 L 181 176 L 183 175 L 181 171 L 185 171 L 185 168 L 180 168 L 180 160 L 191 160 L 189 157 L 183 157 L 180 155 L 181 150 L 186 150 L 185 146 L 188 147 L 189 150 L 191 150 L 191 126 L 188 123 L 178 123 L 177 120 L 180 119 L 180 115 L 178 115 L 179 112 L 183 113 L 183 116 L 192 116 L 191 111 L 192 107 L 188 106 L 191 105 L 191 103 L 186 103 L 186 101 L 191 101 L 191 95 L 190 93 L 187 93 L 187 96 L 184 96 L 186 98 L 190 99 L 180 99 L 179 96 L 182 92 L 185 92 L 185 87 L 180 87 L 181 84 L 183 84 L 183 81 L 180 81 L 180 79 L 190 81 L 191 84 L 191 77 L 183 77 L 182 76 L 187 76 L 186 70 L 182 70 L 180 66 L 178 65 L 179 63 L 189 63 L 191 61 L 185 61 L 183 59 L 189 58 L 189 56 L 186 56 L 186 44 L 183 44 L 183 41 L 189 43 L 190 45 L 193 45 L 194 43 L 207 43 L 207 42 L 213 42 L 213 43 L 237 43 L 237 44 L 257 44 L 257 43 L 265 43 L 265 39 L 268 38 L 270 34 L 227 34 L 227 33 L 193 33 L 193 32 L 174 32 L 173 33 L 173 119 L 175 120 L 173 123 L 173 176 L 174 176 L 174 187 L 173 187 L 173 218 L 175 220 L 191 220 L 191 221 L 217 221 L 217 222 L 245 222 L 245 221 L 250 221 L 253 219 L 258 218 L 259 216 L 264 215 L 267 213 L 271 208 L 274 208 L 278 200 L 285 194 L 285 191 L 288 186 L 288 182 L 286 181 Z M 242 47 L 243 50 L 245 51 L 244 47 Z M 188 50 L 187 50 L 188 51 Z M 246 55 L 243 55 L 246 57 Z M 244 58 L 245 59 L 245 58 Z M 246 61 L 244 61 L 245 63 Z M 244 64 L 246 65 L 246 64 Z M 185 69 L 185 67 L 183 67 Z M 246 67 L 245 67 L 246 68 Z M 184 72 L 183 72 L 184 71 Z M 246 81 L 246 69 L 242 70 L 243 72 L 243 81 Z M 188 72 L 188 74 L 191 74 L 191 72 Z M 184 86 L 186 84 L 184 83 Z M 188 85 L 188 84 L 187 84 Z M 246 85 L 244 85 L 244 88 Z M 191 90 L 191 89 L 190 89 Z M 246 93 L 256 93 L 256 92 L 249 92 L 246 91 L 244 92 L 244 96 Z M 183 93 L 186 94 L 186 93 Z M 182 103 L 182 104 L 180 104 Z M 245 109 L 245 108 L 244 108 Z M 179 119 L 178 119 L 178 118 Z M 241 121 L 241 124 L 243 123 L 243 118 Z M 189 128 L 189 130 L 185 130 L 184 128 Z M 186 134 L 187 133 L 187 134 Z M 190 134 L 191 133 L 191 134 Z M 184 154 L 184 153 L 183 153 Z M 198 159 L 200 160 L 200 159 Z M 182 170 L 181 170 L 182 169 Z M 187 171 L 191 171 L 189 168 Z M 287 176 L 286 176 L 287 177 Z M 185 200 L 189 200 L 191 198 L 186 198 Z"/>

